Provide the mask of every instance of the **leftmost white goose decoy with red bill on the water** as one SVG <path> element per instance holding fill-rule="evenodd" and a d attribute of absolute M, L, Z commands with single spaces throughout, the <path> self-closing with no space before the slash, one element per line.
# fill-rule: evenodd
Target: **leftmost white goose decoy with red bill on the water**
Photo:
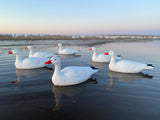
<path fill-rule="evenodd" d="M 35 69 L 45 67 L 46 64 L 44 63 L 49 60 L 48 58 L 38 57 L 28 57 L 22 60 L 20 51 L 18 49 L 14 49 L 8 52 L 8 54 L 16 54 L 15 66 L 18 69 Z"/>

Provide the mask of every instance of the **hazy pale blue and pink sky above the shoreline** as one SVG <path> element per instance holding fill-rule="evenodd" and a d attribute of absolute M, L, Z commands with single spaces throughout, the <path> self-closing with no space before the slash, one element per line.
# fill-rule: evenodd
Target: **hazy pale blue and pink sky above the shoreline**
<path fill-rule="evenodd" d="M 160 34 L 160 0 L 0 0 L 0 33 Z"/>

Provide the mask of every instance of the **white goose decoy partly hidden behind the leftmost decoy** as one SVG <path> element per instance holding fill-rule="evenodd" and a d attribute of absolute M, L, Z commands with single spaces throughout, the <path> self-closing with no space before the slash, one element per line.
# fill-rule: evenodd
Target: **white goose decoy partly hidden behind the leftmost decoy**
<path fill-rule="evenodd" d="M 42 57 L 42 58 L 51 58 L 55 56 L 54 53 L 48 53 L 48 52 L 33 52 L 33 47 L 32 46 L 27 46 L 25 49 L 29 49 L 29 57 Z"/>

